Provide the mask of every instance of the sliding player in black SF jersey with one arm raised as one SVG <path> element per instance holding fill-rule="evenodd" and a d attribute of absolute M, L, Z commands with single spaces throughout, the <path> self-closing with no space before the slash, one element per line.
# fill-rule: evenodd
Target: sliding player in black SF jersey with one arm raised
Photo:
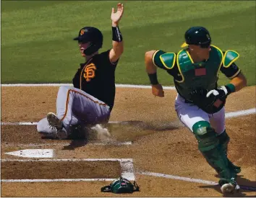
<path fill-rule="evenodd" d="M 103 53 L 103 35 L 95 27 L 82 27 L 77 40 L 85 63 L 80 64 L 73 78 L 73 86 L 61 86 L 56 99 L 56 114 L 50 112 L 38 122 L 38 132 L 57 139 L 65 139 L 75 125 L 97 125 L 107 123 L 114 107 L 115 70 L 124 50 L 119 21 L 123 15 L 123 4 L 112 8 L 112 45 Z"/>

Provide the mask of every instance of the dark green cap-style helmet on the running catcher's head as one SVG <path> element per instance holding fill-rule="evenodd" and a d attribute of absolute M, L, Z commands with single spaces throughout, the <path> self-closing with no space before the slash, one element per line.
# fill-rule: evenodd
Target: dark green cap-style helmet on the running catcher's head
<path fill-rule="evenodd" d="M 202 48 L 208 48 L 211 42 L 210 33 L 205 27 L 190 27 L 185 32 L 185 40 L 182 44 L 182 48 L 187 45 L 200 45 Z"/>

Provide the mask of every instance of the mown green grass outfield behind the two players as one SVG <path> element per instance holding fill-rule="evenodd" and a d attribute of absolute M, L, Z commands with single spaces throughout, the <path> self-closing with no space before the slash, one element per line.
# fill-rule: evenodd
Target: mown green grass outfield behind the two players
<path fill-rule="evenodd" d="M 255 1 L 121 1 L 124 54 L 118 84 L 149 84 L 144 54 L 178 52 L 191 26 L 208 28 L 213 44 L 236 50 L 236 61 L 255 85 Z M 80 57 L 72 40 L 83 26 L 98 27 L 111 48 L 111 7 L 117 1 L 1 1 L 1 83 L 71 83 Z M 195 11 L 197 10 L 197 11 Z M 158 70 L 161 84 L 173 79 Z M 219 84 L 229 79 L 221 74 Z"/>

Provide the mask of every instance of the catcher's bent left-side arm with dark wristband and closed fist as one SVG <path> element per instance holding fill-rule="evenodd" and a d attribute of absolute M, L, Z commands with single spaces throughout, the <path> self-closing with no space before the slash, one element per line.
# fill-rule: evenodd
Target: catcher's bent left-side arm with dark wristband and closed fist
<path fill-rule="evenodd" d="M 148 73 L 148 77 L 150 78 L 150 84 L 152 85 L 152 94 L 154 96 L 163 97 L 164 91 L 161 84 L 158 83 L 158 78 L 156 75 L 156 66 L 153 64 L 153 54 L 156 50 L 151 50 L 145 53 L 145 66 L 146 71 Z"/>

